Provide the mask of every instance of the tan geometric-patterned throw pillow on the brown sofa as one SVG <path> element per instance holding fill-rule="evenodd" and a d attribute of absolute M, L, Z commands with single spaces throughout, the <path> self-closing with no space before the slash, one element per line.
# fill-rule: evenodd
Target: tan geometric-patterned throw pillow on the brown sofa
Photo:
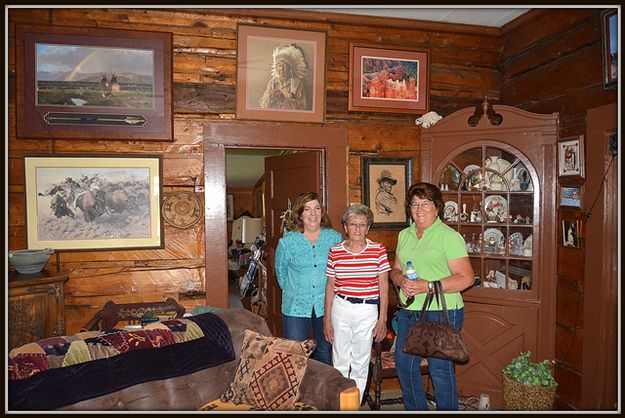
<path fill-rule="evenodd" d="M 314 340 L 267 337 L 246 329 L 241 361 L 222 402 L 248 403 L 264 410 L 290 409 L 299 398 Z"/>

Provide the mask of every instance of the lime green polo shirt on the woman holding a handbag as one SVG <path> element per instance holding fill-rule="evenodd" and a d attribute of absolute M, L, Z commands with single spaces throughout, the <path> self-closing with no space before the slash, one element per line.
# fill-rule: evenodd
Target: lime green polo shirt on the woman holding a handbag
<path fill-rule="evenodd" d="M 451 275 L 448 260 L 467 257 L 467 246 L 455 229 L 449 227 L 440 218 L 425 231 L 421 239 L 417 237 L 417 229 L 414 224 L 399 232 L 397 238 L 396 257 L 401 263 L 402 270 L 406 271 L 406 262 L 412 261 L 414 269 L 419 274 L 419 280 L 440 280 Z M 444 289 L 443 289 L 444 290 Z M 407 308 L 409 310 L 421 310 L 425 301 L 426 293 L 415 296 L 415 301 Z M 399 292 L 402 303 L 406 302 L 403 291 Z M 459 309 L 464 306 L 460 292 L 445 292 L 447 309 Z M 436 301 L 430 305 L 430 310 L 439 310 L 442 307 L 436 305 Z"/>

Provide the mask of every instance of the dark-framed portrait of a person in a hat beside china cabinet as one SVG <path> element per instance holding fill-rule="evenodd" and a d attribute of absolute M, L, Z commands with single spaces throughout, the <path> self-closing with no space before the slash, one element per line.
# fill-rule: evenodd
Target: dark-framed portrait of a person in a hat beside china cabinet
<path fill-rule="evenodd" d="M 412 159 L 362 157 L 361 172 L 362 202 L 373 212 L 371 229 L 409 226 L 405 201 L 412 178 Z"/>

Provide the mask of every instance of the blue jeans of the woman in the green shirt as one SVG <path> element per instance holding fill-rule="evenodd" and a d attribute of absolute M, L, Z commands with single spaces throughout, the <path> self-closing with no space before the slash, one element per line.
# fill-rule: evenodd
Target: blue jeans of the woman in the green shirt
<path fill-rule="evenodd" d="M 440 311 L 426 312 L 428 321 L 438 321 Z M 464 308 L 448 309 L 449 323 L 461 329 L 464 322 Z M 440 312 L 442 316 L 442 312 Z M 419 320 L 421 311 L 400 309 L 397 314 L 397 342 L 395 344 L 395 368 L 401 385 L 404 406 L 407 411 L 427 411 L 428 402 L 421 380 L 421 357 L 404 353 L 402 348 L 412 325 Z M 434 398 L 439 411 L 458 410 L 458 386 L 454 362 L 437 358 L 428 358 L 430 378 L 434 386 Z"/>

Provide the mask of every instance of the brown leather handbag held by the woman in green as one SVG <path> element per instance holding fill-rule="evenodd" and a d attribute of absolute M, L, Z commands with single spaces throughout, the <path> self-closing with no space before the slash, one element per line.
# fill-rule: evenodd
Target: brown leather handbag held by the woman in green
<path fill-rule="evenodd" d="M 403 350 L 405 353 L 416 354 L 421 357 L 435 357 L 456 363 L 467 363 L 469 361 L 469 348 L 462 339 L 460 331 L 449 325 L 447 304 L 440 281 L 435 281 L 433 287 L 433 291 L 428 293 L 425 299 L 419 320 L 408 331 Z M 445 321 L 440 320 L 440 315 L 439 321 L 425 320 L 426 311 L 434 298 L 436 298 L 436 303 L 439 306 L 439 299 L 442 300 Z"/>

